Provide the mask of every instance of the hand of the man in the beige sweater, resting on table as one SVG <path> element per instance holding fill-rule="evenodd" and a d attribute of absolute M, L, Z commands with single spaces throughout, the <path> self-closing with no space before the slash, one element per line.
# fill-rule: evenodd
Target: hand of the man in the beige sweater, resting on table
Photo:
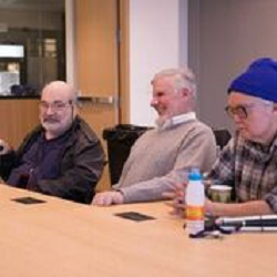
<path fill-rule="evenodd" d="M 124 203 L 124 196 L 121 192 L 117 191 L 98 193 L 92 201 L 92 205 L 96 206 L 110 206 L 113 204 L 123 204 L 123 203 Z"/>

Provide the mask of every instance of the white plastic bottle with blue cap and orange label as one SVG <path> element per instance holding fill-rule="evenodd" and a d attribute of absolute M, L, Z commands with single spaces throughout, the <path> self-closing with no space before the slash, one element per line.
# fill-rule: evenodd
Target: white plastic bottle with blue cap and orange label
<path fill-rule="evenodd" d="M 188 183 L 185 194 L 186 203 L 186 228 L 188 235 L 196 235 L 204 230 L 204 204 L 205 189 L 198 168 L 188 174 Z"/>

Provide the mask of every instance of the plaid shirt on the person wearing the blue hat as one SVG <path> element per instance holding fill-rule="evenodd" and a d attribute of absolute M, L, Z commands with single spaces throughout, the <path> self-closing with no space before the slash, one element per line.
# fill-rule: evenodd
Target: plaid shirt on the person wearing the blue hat
<path fill-rule="evenodd" d="M 238 202 L 265 199 L 277 213 L 277 138 L 265 147 L 235 135 L 208 177 L 234 187 Z"/>

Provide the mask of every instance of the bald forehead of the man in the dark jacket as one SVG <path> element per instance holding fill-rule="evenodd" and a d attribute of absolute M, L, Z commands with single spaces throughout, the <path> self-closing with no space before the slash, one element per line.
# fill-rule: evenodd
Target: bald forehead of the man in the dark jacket
<path fill-rule="evenodd" d="M 45 102 L 70 101 L 74 99 L 74 90 L 68 84 L 50 84 L 42 90 L 41 100 Z"/>

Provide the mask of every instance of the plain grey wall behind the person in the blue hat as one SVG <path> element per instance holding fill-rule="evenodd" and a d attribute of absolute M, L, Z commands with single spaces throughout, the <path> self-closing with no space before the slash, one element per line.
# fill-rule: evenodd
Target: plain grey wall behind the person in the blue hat
<path fill-rule="evenodd" d="M 256 58 L 277 59 L 276 0 L 189 0 L 188 62 L 198 76 L 199 117 L 233 130 L 230 80 Z"/>

